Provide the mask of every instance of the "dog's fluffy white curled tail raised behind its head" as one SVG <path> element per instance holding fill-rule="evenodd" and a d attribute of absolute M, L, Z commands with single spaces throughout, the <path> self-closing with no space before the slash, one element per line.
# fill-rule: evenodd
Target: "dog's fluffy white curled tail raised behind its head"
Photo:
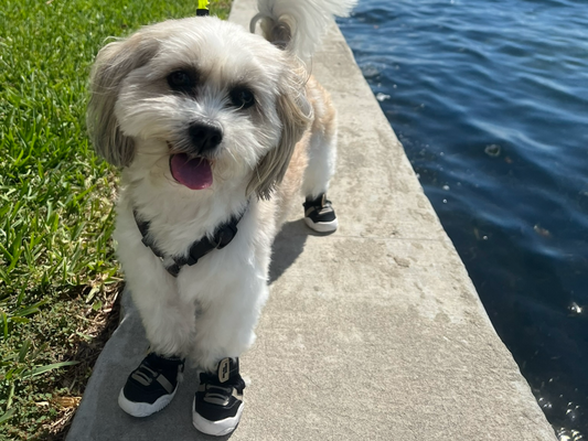
<path fill-rule="evenodd" d="M 278 47 L 308 60 L 336 17 L 346 17 L 357 0 L 257 0 L 259 13 L 249 29 L 260 20 L 264 36 Z"/>

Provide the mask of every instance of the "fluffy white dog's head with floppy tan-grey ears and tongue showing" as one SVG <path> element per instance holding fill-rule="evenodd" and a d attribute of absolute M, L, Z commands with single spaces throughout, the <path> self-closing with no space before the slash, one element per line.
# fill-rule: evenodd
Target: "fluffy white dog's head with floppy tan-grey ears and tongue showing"
<path fill-rule="evenodd" d="M 309 121 L 304 73 L 287 53 L 214 18 L 167 21 L 108 44 L 93 72 L 98 153 L 192 190 L 264 197 Z"/>

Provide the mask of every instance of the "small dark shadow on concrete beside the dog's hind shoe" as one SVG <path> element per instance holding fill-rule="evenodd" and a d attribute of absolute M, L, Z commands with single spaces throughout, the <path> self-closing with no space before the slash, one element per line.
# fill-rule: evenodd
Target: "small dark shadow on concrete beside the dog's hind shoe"
<path fill-rule="evenodd" d="M 296 259 L 298 259 L 298 256 L 304 250 L 307 237 L 312 234 L 314 233 L 304 225 L 302 219 L 284 224 L 271 248 L 269 284 L 278 280 Z"/>

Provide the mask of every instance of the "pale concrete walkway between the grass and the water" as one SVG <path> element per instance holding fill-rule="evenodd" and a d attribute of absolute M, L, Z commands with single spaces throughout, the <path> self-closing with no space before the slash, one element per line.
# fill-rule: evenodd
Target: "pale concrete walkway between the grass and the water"
<path fill-rule="evenodd" d="M 231 19 L 246 25 L 253 9 L 235 0 Z M 225 438 L 556 440 L 339 30 L 313 73 L 340 112 L 341 227 L 318 237 L 295 216 L 276 240 L 270 300 L 242 358 L 245 412 Z M 212 439 L 191 423 L 193 374 L 160 413 L 118 408 L 147 347 L 128 300 L 67 440 Z"/>

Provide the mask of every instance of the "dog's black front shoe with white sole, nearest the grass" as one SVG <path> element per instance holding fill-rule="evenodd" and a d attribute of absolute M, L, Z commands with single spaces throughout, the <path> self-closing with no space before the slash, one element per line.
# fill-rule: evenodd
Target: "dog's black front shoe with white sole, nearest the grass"
<path fill-rule="evenodd" d="M 150 353 L 118 395 L 118 406 L 133 417 L 148 417 L 170 404 L 178 390 L 184 361 Z"/>

